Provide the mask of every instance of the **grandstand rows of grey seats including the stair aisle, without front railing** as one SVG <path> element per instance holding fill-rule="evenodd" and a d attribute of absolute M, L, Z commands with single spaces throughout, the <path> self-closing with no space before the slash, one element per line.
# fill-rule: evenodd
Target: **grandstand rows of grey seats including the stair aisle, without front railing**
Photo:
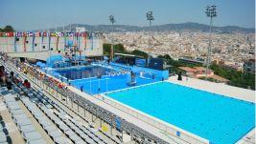
<path fill-rule="evenodd" d="M 8 70 L 9 72 L 11 70 Z M 20 77 L 25 78 L 25 77 Z M 8 123 L 15 123 L 23 142 L 26 143 L 120 143 L 120 140 L 107 134 L 101 134 L 89 126 L 88 121 L 76 120 L 77 114 L 67 113 L 63 104 L 49 98 L 35 87 L 27 89 L 12 83 L 12 91 L 1 88 L 1 106 L 9 114 L 1 114 L 5 119 L 12 117 Z M 1 123 L 1 124 L 2 124 Z M 84 124 L 85 123 L 85 124 Z M 39 125 L 38 125 L 39 124 Z M 1 132 L 9 129 L 1 125 Z M 43 131 L 42 131 L 43 130 Z M 12 142 L 15 136 L 0 133 L 1 142 Z"/>

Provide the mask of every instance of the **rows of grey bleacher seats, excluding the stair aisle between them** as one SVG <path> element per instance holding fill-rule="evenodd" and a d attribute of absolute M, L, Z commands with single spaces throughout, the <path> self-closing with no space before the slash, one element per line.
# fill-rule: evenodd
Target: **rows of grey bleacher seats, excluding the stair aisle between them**
<path fill-rule="evenodd" d="M 36 131 L 30 117 L 20 108 L 17 102 L 19 99 L 55 143 L 107 143 L 102 135 L 95 133 L 96 130 L 83 126 L 72 115 L 66 113 L 62 104 L 52 101 L 33 87 L 27 89 L 22 84 L 13 83 L 12 91 L 0 88 L 0 94 L 3 95 L 12 119 L 27 143 L 43 144 L 46 142 Z M 2 136 L 1 127 L 0 136 Z M 2 140 L 1 137 L 0 139 Z M 113 143 L 119 142 L 113 141 Z"/>

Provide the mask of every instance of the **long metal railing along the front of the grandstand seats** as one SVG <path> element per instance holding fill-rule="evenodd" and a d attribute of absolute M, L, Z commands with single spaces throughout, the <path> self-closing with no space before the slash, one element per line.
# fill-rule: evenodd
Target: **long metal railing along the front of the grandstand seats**
<path fill-rule="evenodd" d="M 11 63 L 6 63 L 5 65 L 8 67 L 12 67 L 12 69 L 15 69 L 16 71 L 18 71 L 16 69 L 16 66 L 14 64 L 12 64 L 12 61 L 11 61 Z M 27 65 L 27 66 L 31 67 L 29 65 Z M 44 72 L 41 72 L 41 73 L 44 73 Z M 110 126 L 116 128 L 116 129 L 119 126 L 117 126 L 115 120 L 119 119 L 121 121 L 121 128 L 118 128 L 118 129 L 120 129 L 121 131 L 125 131 L 128 134 L 136 135 L 141 138 L 151 139 L 151 141 L 155 141 L 156 143 L 160 143 L 160 144 L 168 143 L 165 140 L 143 130 L 142 128 L 139 128 L 138 126 L 136 126 L 132 123 L 129 123 L 128 121 L 126 121 L 122 117 L 116 115 L 115 113 L 111 113 L 111 112 L 105 110 L 105 108 L 94 104 L 93 102 L 85 99 L 78 93 L 73 93 L 71 91 L 67 92 L 67 91 L 59 89 L 57 86 L 53 86 L 52 83 L 50 83 L 50 81 L 48 81 L 49 77 L 51 77 L 51 76 L 48 75 L 47 73 L 44 73 L 44 74 L 46 75 L 46 77 L 40 83 L 37 83 L 38 85 L 41 86 L 41 88 L 43 88 L 44 86 L 52 86 L 51 89 L 62 94 L 65 97 L 68 97 L 69 99 L 72 99 L 73 102 L 75 102 L 78 105 L 80 105 L 81 107 L 83 107 L 83 109 L 85 109 L 87 112 L 93 113 L 94 115 L 96 115 L 97 117 L 99 117 L 100 119 L 102 119 L 103 121 L 105 121 Z M 35 74 L 35 75 L 37 75 L 37 74 Z M 40 81 L 40 79 L 38 79 L 37 76 L 35 76 L 34 78 L 36 79 L 36 81 Z M 35 81 L 35 79 L 34 79 L 34 81 Z"/>

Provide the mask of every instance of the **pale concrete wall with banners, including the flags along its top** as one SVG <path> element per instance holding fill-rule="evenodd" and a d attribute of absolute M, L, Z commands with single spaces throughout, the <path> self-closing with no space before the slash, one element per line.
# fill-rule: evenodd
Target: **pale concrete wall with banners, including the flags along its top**
<path fill-rule="evenodd" d="M 62 53 L 76 49 L 85 56 L 103 55 L 103 35 L 100 32 L 0 32 L 0 51 Z"/>

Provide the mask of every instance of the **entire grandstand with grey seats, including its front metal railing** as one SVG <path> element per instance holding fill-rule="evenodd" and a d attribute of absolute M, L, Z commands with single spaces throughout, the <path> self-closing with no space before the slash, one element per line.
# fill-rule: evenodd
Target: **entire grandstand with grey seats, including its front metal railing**
<path fill-rule="evenodd" d="M 1 121 L 12 123 L 13 127 L 1 124 L 2 131 L 11 132 L 0 135 L 3 142 L 19 139 L 19 143 L 166 143 L 79 95 L 60 92 L 46 81 L 19 72 L 11 61 L 0 64 L 7 72 L 14 72 L 21 80 L 29 79 L 32 84 L 31 89 L 14 82 L 11 91 L 1 88 L 1 113 L 6 113 L 1 114 Z"/>

